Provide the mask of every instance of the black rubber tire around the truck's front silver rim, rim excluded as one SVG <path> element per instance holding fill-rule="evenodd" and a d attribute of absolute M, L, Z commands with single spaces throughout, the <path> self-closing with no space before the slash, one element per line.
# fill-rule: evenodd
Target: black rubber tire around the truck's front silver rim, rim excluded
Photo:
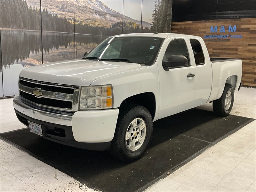
<path fill-rule="evenodd" d="M 141 118 L 146 124 L 145 140 L 137 150 L 130 150 L 125 142 L 126 131 L 135 118 Z M 129 104 L 119 108 L 119 115 L 116 124 L 116 131 L 113 140 L 111 141 L 110 153 L 124 162 L 132 162 L 139 159 L 148 147 L 153 131 L 152 117 L 148 109 L 135 104 Z"/>

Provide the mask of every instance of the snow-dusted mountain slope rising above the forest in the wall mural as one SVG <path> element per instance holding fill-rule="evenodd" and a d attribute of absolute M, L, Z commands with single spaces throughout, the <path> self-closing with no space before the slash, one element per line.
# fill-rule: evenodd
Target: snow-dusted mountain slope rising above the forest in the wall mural
<path fill-rule="evenodd" d="M 57 13 L 60 17 L 66 17 L 70 21 L 74 21 L 74 3 L 76 22 L 96 27 L 111 27 L 114 23 L 123 20 L 123 14 L 110 9 L 108 5 L 100 0 L 41 0 L 42 9 L 48 12 Z M 40 7 L 39 0 L 27 0 L 28 6 Z M 140 20 L 134 20 L 124 15 L 124 22 L 135 22 L 140 25 Z M 150 27 L 150 23 L 142 21 L 142 26 Z"/>

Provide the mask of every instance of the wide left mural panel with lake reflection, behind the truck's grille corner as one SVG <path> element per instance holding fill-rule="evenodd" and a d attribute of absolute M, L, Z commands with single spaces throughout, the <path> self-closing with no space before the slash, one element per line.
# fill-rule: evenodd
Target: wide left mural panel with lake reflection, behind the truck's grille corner
<path fill-rule="evenodd" d="M 42 64 L 40 0 L 0 2 L 3 95 L 18 93 L 24 68 Z"/>

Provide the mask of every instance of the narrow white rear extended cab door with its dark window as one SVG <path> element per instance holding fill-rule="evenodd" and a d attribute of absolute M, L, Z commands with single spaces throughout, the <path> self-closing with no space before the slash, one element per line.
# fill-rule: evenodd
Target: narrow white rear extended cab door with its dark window
<path fill-rule="evenodd" d="M 212 64 L 204 44 L 204 40 L 200 37 L 188 37 L 189 49 L 191 54 L 191 62 L 196 70 L 196 94 L 195 106 L 207 103 L 212 90 Z"/>

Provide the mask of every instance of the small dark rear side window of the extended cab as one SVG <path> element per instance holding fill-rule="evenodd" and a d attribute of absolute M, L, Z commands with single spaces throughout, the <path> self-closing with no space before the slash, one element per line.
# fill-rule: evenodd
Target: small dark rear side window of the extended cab
<path fill-rule="evenodd" d="M 204 52 L 201 43 L 196 39 L 190 39 L 190 44 L 194 53 L 196 65 L 204 64 Z"/>

